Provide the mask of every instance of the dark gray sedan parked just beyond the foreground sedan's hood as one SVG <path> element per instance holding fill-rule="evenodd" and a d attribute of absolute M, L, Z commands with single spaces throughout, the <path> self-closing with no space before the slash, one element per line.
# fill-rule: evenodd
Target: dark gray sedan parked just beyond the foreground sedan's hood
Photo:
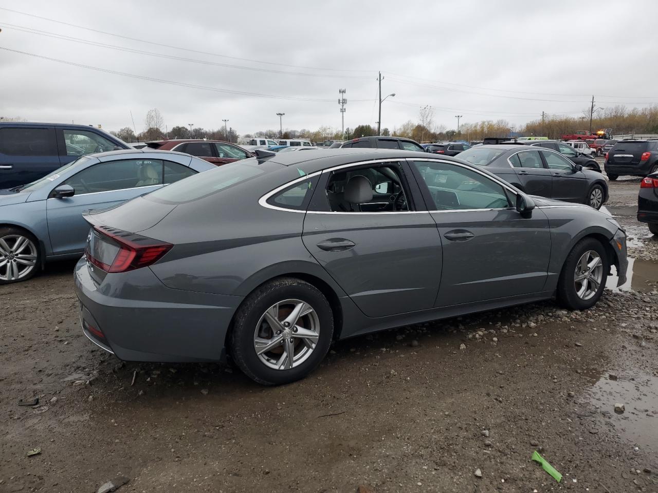
<path fill-rule="evenodd" d="M 572 163 L 556 151 L 525 145 L 480 145 L 459 158 L 486 169 L 530 195 L 601 208 L 608 184 L 598 172 Z"/>

